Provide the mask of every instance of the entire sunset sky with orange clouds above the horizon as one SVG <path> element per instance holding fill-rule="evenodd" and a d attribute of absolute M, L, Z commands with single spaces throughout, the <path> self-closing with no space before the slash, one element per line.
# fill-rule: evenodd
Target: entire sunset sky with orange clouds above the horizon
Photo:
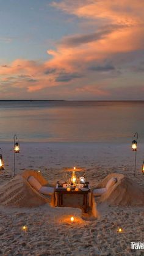
<path fill-rule="evenodd" d="M 1 100 L 144 100 L 143 0 L 0 0 Z"/>

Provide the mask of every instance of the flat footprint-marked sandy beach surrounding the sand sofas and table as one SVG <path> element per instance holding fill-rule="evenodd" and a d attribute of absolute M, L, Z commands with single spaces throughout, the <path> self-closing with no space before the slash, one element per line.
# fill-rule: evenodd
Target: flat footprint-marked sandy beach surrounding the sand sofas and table
<path fill-rule="evenodd" d="M 128 144 L 21 143 L 16 155 L 16 174 L 24 169 L 40 170 L 55 186 L 64 177 L 64 167 L 85 167 L 91 188 L 107 174 L 116 172 L 144 185 L 141 172 L 144 145 L 137 152 L 134 177 L 134 152 Z M 5 170 L 0 185 L 12 179 L 13 145 L 1 145 Z M 139 195 L 137 195 L 139 197 Z M 1 206 L 1 255 L 143 255 L 131 250 L 131 241 L 143 242 L 144 207 L 98 204 L 98 218 L 83 214 L 80 208 L 36 208 Z M 70 216 L 74 216 L 74 223 Z M 27 229 L 22 227 L 26 225 Z M 118 233 L 121 228 L 122 232 Z"/>

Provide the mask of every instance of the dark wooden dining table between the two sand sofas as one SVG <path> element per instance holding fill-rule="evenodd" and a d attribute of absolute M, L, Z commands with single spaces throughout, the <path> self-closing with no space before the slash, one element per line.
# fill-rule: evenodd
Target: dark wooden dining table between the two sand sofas
<path fill-rule="evenodd" d="M 84 205 L 84 213 L 87 213 L 87 208 L 88 208 L 88 193 L 90 193 L 90 188 L 87 190 L 82 190 L 79 189 L 78 191 L 75 191 L 71 189 L 70 191 L 67 191 L 66 188 L 56 188 L 55 192 L 57 193 L 57 207 L 62 207 L 63 206 L 63 195 L 67 194 L 73 194 L 73 195 L 84 195 L 84 200 L 83 200 L 83 205 Z"/>

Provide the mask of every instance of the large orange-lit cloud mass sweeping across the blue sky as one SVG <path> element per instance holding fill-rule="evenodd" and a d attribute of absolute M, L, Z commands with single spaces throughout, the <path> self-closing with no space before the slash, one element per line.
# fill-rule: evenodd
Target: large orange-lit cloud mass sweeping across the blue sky
<path fill-rule="evenodd" d="M 9 92 L 12 95 L 12 89 L 20 89 L 24 96 L 36 98 L 51 93 L 65 98 L 107 99 L 118 97 L 117 92 L 123 97 L 128 86 L 137 84 L 139 78 L 133 71 L 139 71 L 143 81 L 143 66 L 137 62 L 143 51 L 143 1 L 63 0 L 52 2 L 52 6 L 67 13 L 66 18 L 78 17 L 76 34 L 68 31 L 60 38 L 54 49 L 48 49 L 51 57 L 47 60 L 4 62 L 0 83 L 5 97 Z M 137 89 L 141 88 L 140 81 Z"/>

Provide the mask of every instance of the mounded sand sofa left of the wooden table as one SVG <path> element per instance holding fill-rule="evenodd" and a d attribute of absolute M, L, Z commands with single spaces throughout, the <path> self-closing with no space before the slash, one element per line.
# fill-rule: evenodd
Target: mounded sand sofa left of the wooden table
<path fill-rule="evenodd" d="M 35 186 L 35 180 L 37 185 Z M 29 183 L 33 180 L 33 185 Z M 45 188 L 46 187 L 46 188 Z M 41 192 L 40 192 L 41 189 Z M 0 186 L 0 205 L 12 207 L 39 207 L 48 203 L 54 207 L 54 188 L 36 170 L 26 169 Z"/>

